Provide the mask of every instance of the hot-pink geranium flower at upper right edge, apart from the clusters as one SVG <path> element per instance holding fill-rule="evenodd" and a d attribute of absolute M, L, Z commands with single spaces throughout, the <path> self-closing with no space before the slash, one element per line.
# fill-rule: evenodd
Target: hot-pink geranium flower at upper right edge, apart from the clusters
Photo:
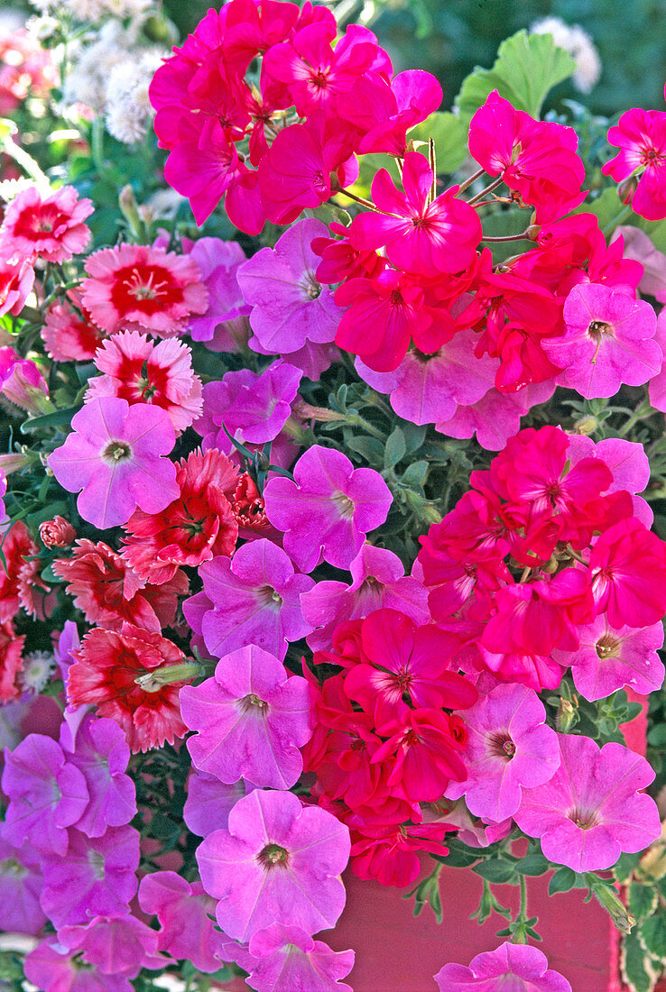
<path fill-rule="evenodd" d="M 666 113 L 637 107 L 627 110 L 608 128 L 608 144 L 619 152 L 601 167 L 603 175 L 621 183 L 637 173 L 632 210 L 648 220 L 666 217 Z"/>

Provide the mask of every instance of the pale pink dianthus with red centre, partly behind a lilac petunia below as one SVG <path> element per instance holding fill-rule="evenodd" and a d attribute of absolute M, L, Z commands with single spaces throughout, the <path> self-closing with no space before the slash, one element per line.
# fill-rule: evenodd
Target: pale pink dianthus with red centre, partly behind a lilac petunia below
<path fill-rule="evenodd" d="M 200 417 L 201 380 L 192 368 L 192 350 L 182 341 L 155 344 L 146 334 L 122 330 L 102 342 L 94 363 L 103 374 L 88 381 L 86 403 L 117 396 L 129 404 L 161 407 L 176 434 Z"/>

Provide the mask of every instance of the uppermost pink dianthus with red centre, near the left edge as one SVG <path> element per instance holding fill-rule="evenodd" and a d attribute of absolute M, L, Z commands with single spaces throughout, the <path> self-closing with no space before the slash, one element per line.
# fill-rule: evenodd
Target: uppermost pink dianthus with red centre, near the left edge
<path fill-rule="evenodd" d="M 79 199 L 73 186 L 62 186 L 46 197 L 37 186 L 29 186 L 5 209 L 0 227 L 3 252 L 67 262 L 90 240 L 83 221 L 93 209 L 92 201 Z"/>

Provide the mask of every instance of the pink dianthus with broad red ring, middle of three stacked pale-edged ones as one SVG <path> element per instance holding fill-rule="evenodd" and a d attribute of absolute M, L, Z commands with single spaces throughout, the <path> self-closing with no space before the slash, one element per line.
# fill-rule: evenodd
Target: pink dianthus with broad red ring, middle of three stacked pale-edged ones
<path fill-rule="evenodd" d="M 208 295 L 197 263 L 150 245 L 100 248 L 85 262 L 82 303 L 95 323 L 116 330 L 147 330 L 174 337 L 193 313 L 204 313 Z"/>

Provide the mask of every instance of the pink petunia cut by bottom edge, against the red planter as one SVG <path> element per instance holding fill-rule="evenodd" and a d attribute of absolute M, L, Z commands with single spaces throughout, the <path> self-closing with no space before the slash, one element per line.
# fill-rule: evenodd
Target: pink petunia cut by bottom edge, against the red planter
<path fill-rule="evenodd" d="M 548 967 L 546 955 L 524 943 L 502 943 L 477 954 L 469 967 L 445 964 L 435 981 L 440 992 L 572 992 L 564 975 Z"/>

